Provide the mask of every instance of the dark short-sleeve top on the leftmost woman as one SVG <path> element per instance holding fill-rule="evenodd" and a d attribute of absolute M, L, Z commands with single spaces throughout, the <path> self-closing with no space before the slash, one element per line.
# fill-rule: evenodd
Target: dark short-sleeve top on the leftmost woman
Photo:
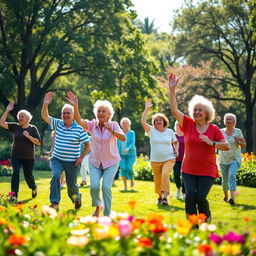
<path fill-rule="evenodd" d="M 34 159 L 35 158 L 35 144 L 23 135 L 27 131 L 33 138 L 40 139 L 39 132 L 34 125 L 29 125 L 27 128 L 22 128 L 18 123 L 10 122 L 8 130 L 13 133 L 13 143 L 11 156 L 20 159 Z"/>

